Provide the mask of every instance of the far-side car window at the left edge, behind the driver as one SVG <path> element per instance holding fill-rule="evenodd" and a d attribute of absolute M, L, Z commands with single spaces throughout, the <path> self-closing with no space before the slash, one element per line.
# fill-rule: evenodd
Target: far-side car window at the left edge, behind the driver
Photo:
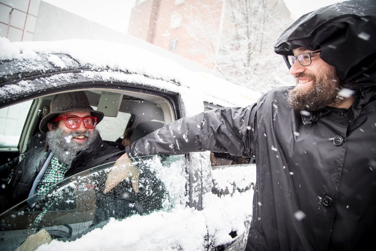
<path fill-rule="evenodd" d="M 32 100 L 0 109 L 0 147 L 17 147 Z"/>

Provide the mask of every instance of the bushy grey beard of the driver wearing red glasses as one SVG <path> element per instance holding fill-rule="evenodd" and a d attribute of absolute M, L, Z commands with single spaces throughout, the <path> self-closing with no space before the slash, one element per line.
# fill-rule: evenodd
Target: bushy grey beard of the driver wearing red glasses
<path fill-rule="evenodd" d="M 70 140 L 71 137 L 84 135 L 87 139 L 82 144 Z M 60 163 L 71 166 L 72 161 L 77 154 L 88 148 L 98 137 L 99 132 L 94 129 L 93 132 L 64 132 L 62 129 L 55 129 L 46 134 L 46 142 L 49 149 L 58 158 Z"/>

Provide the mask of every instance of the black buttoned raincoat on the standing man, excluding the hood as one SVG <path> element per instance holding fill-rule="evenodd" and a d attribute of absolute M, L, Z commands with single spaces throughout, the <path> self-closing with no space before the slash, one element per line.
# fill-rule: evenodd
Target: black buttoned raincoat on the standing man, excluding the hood
<path fill-rule="evenodd" d="M 256 157 L 248 250 L 367 250 L 376 232 L 375 91 L 358 96 L 350 110 L 327 107 L 303 116 L 288 107 L 289 89 L 246 108 L 177 120 L 127 152 Z"/>

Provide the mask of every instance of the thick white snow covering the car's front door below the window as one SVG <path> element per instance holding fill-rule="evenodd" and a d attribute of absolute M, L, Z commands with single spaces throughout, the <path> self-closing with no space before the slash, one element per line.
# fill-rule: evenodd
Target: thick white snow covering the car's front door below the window
<path fill-rule="evenodd" d="M 202 213 L 186 208 L 135 215 L 123 221 L 112 219 L 102 229 L 95 229 L 74 242 L 53 240 L 37 250 L 195 251 L 203 249 L 205 234 Z"/>

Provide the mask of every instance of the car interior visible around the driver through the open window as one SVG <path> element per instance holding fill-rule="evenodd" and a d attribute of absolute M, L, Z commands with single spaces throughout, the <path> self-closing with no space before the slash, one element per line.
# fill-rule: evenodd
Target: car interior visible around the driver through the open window
<path fill-rule="evenodd" d="M 108 89 L 85 90 L 90 105 L 94 110 L 102 111 L 104 119 L 97 125 L 97 129 L 103 140 L 117 141 L 121 143 L 124 131 L 127 128 L 135 129 L 134 141 L 142 136 L 170 123 L 174 120 L 175 114 L 169 102 L 163 97 L 136 93 L 131 91 L 108 91 Z M 29 105 L 17 104 L 20 108 L 11 110 L 3 108 L 0 111 L 1 117 L 7 116 L 8 121 L 15 122 L 19 126 L 17 132 L 9 132 L 12 142 L 0 141 L 0 164 L 7 163 L 27 149 L 29 139 L 39 133 L 39 123 L 44 114 L 49 112 L 49 105 L 54 95 L 42 96 L 28 101 Z M 24 102 L 26 103 L 26 102 Z M 14 105 L 14 106 L 17 106 Z M 11 113 L 17 113 L 13 118 Z M 11 123 L 9 122 L 9 123 Z M 5 131 L 5 136 L 7 132 Z"/>

